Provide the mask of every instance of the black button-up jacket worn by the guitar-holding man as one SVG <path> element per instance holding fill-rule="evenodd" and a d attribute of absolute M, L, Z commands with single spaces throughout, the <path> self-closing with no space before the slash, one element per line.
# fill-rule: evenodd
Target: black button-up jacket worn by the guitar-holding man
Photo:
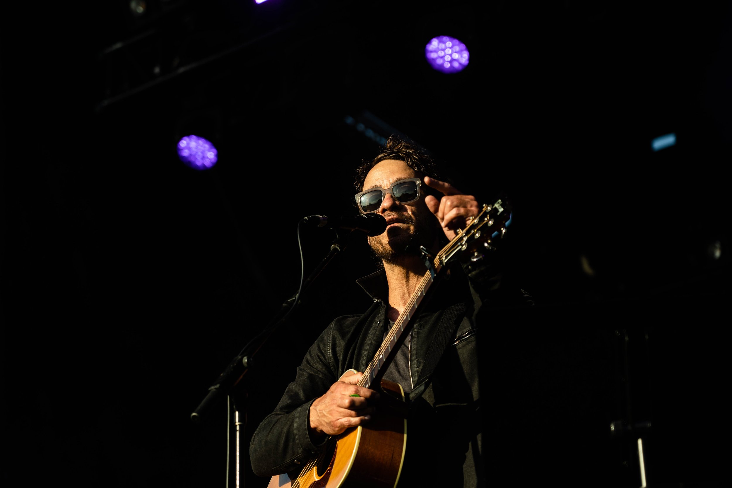
<path fill-rule="evenodd" d="M 468 278 L 469 277 L 469 278 Z M 275 411 L 254 432 L 250 458 L 258 476 L 301 468 L 318 453 L 308 434 L 308 413 L 348 369 L 364 371 L 388 330 L 384 271 L 358 280 L 374 299 L 361 315 L 333 320 L 308 350 Z M 414 318 L 407 446 L 399 488 L 485 486 L 478 383 L 478 330 L 486 307 L 531 305 L 520 288 L 503 286 L 492 266 L 463 270 L 433 285 L 433 296 Z M 447 335 L 444 335 L 447 334 Z M 441 342 L 436 337 L 445 337 Z M 440 343 L 441 345 L 438 345 Z M 432 367 L 430 367 L 430 364 Z M 429 369 L 429 371 L 425 371 Z M 438 467 L 425 475 L 425 469 Z"/>

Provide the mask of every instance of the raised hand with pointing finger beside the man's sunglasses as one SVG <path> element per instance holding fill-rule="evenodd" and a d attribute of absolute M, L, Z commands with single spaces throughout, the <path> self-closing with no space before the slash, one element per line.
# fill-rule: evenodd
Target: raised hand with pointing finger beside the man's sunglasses
<path fill-rule="evenodd" d="M 455 238 L 458 229 L 465 228 L 470 219 L 480 211 L 478 200 L 473 195 L 465 195 L 451 184 L 425 176 L 425 184 L 444 194 L 439 200 L 433 195 L 425 197 L 427 208 L 435 214 L 447 239 Z"/>

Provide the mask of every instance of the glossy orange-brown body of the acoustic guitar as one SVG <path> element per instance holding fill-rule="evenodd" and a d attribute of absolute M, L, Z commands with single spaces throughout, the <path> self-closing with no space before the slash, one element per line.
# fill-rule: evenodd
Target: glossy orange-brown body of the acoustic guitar
<path fill-rule="evenodd" d="M 381 380 L 381 389 L 393 402 L 381 402 L 367 424 L 332 438 L 329 448 L 301 473 L 272 476 L 267 488 L 395 488 L 407 440 L 405 410 L 397 407 L 397 402 L 404 405 L 404 391 L 387 380 Z"/>

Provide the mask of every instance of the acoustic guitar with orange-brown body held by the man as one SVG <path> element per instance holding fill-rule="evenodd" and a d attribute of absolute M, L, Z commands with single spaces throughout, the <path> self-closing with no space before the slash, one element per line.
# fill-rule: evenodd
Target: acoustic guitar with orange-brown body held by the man
<path fill-rule="evenodd" d="M 427 249 L 420 247 L 427 272 L 358 383 L 365 388 L 378 388 L 381 392 L 378 414 L 368 424 L 330 436 L 324 451 L 310 459 L 302 470 L 272 476 L 267 488 L 397 486 L 406 453 L 407 405 L 402 387 L 382 379 L 386 367 L 411 329 L 411 319 L 419 315 L 427 303 L 430 287 L 447 272 L 446 265 L 466 254 L 470 260 L 482 258 L 482 253 L 491 248 L 492 239 L 504 236 L 509 218 L 509 206 L 505 199 L 499 198 L 492 205 L 482 206 L 477 217 L 471 219 L 466 228 L 458 230 L 458 235 L 436 256 L 429 255 Z M 349 369 L 348 372 L 356 371 Z"/>

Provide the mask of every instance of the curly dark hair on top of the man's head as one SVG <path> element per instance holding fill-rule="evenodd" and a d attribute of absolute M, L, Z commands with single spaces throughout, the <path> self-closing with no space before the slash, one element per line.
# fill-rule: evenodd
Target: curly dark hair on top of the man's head
<path fill-rule="evenodd" d="M 384 159 L 397 159 L 398 161 L 406 162 L 409 168 L 417 171 L 417 174 L 424 178 L 430 176 L 440 181 L 446 181 L 451 183 L 452 181 L 441 172 L 441 167 L 433 159 L 427 149 L 413 140 L 408 140 L 403 136 L 392 135 L 386 140 L 386 148 L 381 151 L 378 156 L 371 159 L 370 161 L 363 161 L 362 164 L 356 168 L 356 181 L 354 181 L 354 187 L 356 193 L 361 192 L 363 189 L 366 175 L 378 162 L 384 161 Z M 422 185 L 422 191 L 428 195 L 435 195 L 438 198 L 441 197 L 441 193 L 436 189 Z"/>

